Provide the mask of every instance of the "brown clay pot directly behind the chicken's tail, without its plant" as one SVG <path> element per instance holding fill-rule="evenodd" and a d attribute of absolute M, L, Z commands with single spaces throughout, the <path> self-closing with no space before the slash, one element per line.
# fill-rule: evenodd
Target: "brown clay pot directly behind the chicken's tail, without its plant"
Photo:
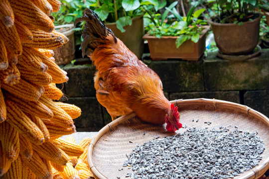
<path fill-rule="evenodd" d="M 143 16 L 134 17 L 132 25 L 127 25 L 124 27 L 125 32 L 121 32 L 115 23 L 105 24 L 110 28 L 115 36 L 123 41 L 123 43 L 137 56 L 141 59 L 144 50 L 144 41 L 142 36 L 145 34 L 143 25 Z"/>

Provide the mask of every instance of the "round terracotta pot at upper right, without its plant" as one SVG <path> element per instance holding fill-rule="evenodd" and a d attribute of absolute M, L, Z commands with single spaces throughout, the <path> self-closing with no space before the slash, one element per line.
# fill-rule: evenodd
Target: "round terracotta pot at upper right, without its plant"
<path fill-rule="evenodd" d="M 216 23 L 211 19 L 208 22 L 212 27 L 217 47 L 223 54 L 244 55 L 252 52 L 258 45 L 261 18 L 262 14 L 259 13 L 258 18 L 244 22 L 243 25 Z"/>

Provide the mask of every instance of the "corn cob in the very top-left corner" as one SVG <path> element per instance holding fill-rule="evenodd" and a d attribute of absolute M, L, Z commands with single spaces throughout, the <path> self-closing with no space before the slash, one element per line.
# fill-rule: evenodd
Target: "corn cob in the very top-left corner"
<path fill-rule="evenodd" d="M 0 1 L 0 20 L 6 27 L 14 24 L 14 14 L 8 0 Z"/>

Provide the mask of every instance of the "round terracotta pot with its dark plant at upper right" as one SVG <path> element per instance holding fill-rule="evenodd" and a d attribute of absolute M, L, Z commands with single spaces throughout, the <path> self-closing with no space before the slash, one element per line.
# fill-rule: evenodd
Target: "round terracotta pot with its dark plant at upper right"
<path fill-rule="evenodd" d="M 259 0 L 216 0 L 216 15 L 208 22 L 221 54 L 236 57 L 254 52 L 262 17 L 255 12 L 258 4 Z"/>

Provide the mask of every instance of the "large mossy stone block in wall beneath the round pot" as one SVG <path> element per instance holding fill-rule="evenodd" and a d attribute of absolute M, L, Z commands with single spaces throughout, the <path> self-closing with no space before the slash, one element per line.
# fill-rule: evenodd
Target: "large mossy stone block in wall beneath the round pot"
<path fill-rule="evenodd" d="M 207 91 L 269 89 L 269 51 L 249 60 L 223 60 L 211 53 L 204 60 Z"/>

